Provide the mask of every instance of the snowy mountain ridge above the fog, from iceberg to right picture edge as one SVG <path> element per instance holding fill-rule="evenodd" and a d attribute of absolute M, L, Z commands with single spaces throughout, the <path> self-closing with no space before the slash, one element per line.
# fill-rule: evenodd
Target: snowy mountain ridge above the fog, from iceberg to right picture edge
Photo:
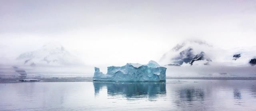
<path fill-rule="evenodd" d="M 255 65 L 256 46 L 224 50 L 202 41 L 177 44 L 160 59 L 162 65 Z M 251 62 L 250 62 L 251 61 Z"/>

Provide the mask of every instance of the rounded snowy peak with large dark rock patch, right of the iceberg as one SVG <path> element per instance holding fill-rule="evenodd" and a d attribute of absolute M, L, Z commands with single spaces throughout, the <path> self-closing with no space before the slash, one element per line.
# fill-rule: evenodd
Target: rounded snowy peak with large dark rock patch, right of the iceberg
<path fill-rule="evenodd" d="M 168 65 L 183 65 L 198 63 L 209 64 L 212 61 L 211 51 L 213 46 L 201 41 L 186 41 L 177 44 L 169 52 L 164 54 L 160 59 L 160 63 Z"/>

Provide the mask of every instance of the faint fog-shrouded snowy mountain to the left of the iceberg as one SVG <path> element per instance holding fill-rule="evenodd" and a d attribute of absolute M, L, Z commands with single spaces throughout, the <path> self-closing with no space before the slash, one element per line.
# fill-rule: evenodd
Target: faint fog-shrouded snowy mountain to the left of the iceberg
<path fill-rule="evenodd" d="M 37 65 L 81 65 L 78 57 L 70 54 L 63 46 L 46 44 L 42 48 L 20 54 L 16 60 L 24 65 L 36 67 Z"/>

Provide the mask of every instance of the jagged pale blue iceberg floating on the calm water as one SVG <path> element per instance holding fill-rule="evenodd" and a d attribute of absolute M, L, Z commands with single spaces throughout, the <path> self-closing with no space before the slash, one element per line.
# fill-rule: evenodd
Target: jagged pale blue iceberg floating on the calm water
<path fill-rule="evenodd" d="M 108 67 L 103 74 L 98 67 L 94 67 L 93 81 L 166 81 L 166 67 L 160 67 L 155 61 L 147 65 L 127 63 L 124 66 Z"/>

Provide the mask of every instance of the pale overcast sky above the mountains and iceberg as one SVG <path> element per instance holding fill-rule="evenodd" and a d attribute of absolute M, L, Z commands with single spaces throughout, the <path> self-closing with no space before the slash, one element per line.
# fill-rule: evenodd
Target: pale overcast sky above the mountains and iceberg
<path fill-rule="evenodd" d="M 87 64 L 146 63 L 187 39 L 255 46 L 256 0 L 0 0 L 2 62 L 53 42 Z"/>

